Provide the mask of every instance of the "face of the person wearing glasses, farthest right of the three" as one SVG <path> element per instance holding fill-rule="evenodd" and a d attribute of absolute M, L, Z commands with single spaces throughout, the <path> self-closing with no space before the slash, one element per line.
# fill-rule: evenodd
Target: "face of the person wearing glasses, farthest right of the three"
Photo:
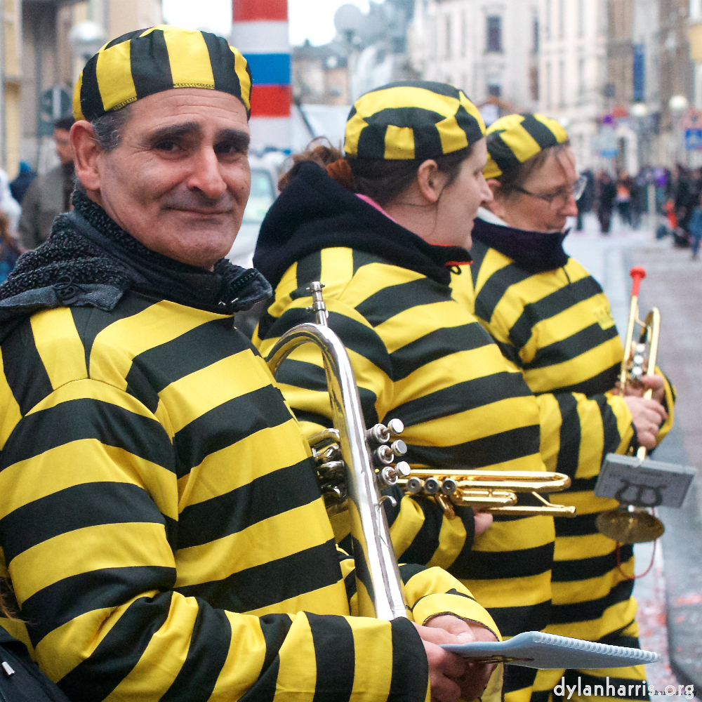
<path fill-rule="evenodd" d="M 543 164 L 532 171 L 522 185 L 522 189 L 531 194 L 512 192 L 508 197 L 501 197 L 497 190 L 491 209 L 510 227 L 532 232 L 560 232 L 566 225 L 566 218 L 578 213 L 572 194 L 577 180 L 573 152 L 569 148 L 551 150 Z"/>

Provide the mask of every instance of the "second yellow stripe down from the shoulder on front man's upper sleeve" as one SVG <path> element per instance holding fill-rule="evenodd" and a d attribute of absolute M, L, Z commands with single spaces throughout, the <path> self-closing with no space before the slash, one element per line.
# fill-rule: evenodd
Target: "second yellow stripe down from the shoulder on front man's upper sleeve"
<path fill-rule="evenodd" d="M 76 470 L 79 465 L 80 470 Z M 0 519 L 10 512 L 75 485 L 118 482 L 147 491 L 161 514 L 178 519 L 176 476 L 98 439 L 81 439 L 44 451 L 0 472 Z"/>

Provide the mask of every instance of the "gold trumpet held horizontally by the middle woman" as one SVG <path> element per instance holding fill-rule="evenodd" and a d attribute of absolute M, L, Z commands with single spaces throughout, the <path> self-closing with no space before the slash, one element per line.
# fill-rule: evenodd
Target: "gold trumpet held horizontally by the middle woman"
<path fill-rule="evenodd" d="M 569 488 L 571 479 L 563 473 L 531 470 L 446 470 L 412 468 L 397 484 L 413 495 L 432 496 L 449 519 L 455 517 L 453 505 L 473 507 L 492 515 L 512 517 L 575 517 L 569 505 L 550 503 L 541 493 L 550 494 Z M 540 505 L 517 505 L 517 494 L 529 493 Z"/>

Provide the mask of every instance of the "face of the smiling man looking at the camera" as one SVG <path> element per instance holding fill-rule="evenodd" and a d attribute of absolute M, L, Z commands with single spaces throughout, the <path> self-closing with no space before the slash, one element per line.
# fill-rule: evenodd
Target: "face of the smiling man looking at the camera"
<path fill-rule="evenodd" d="M 100 152 L 95 199 L 152 251 L 211 269 L 241 227 L 248 149 L 246 110 L 234 95 L 203 88 L 149 95 L 131 106 L 119 146 Z"/>

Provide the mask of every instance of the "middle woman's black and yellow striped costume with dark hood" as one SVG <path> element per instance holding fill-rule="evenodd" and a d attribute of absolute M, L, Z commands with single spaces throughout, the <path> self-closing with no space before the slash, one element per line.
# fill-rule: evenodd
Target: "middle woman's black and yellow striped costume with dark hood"
<path fill-rule="evenodd" d="M 277 236 L 291 238 L 277 246 Z M 321 243 L 321 250 L 295 260 L 310 240 Z M 392 262 L 402 251 L 406 266 Z M 475 317 L 451 298 L 448 270 L 440 269 L 445 282 L 437 280 L 428 252 L 444 255 L 443 247 L 431 247 L 392 223 L 318 166 L 298 164 L 298 175 L 270 210 L 259 237 L 256 266 L 275 285 L 275 298 L 254 343 L 265 356 L 284 331 L 312 321 L 305 289 L 321 280 L 329 326 L 349 352 L 366 425 L 401 419 L 410 463 L 545 470 L 538 455 L 536 400 Z M 289 259 L 290 265 L 282 263 Z M 426 266 L 428 272 L 409 266 Z M 275 270 L 283 267 L 277 277 Z M 294 352 L 277 378 L 305 434 L 329 425 L 329 394 L 314 347 Z M 344 536 L 343 527 L 337 533 Z M 399 560 L 448 569 L 488 609 L 503 635 L 547 623 L 551 517 L 496 517 L 470 550 L 461 519 L 442 518 L 433 501 L 404 498 L 390 533 Z M 534 671 L 508 668 L 507 680 L 512 699 L 529 698 Z"/>

